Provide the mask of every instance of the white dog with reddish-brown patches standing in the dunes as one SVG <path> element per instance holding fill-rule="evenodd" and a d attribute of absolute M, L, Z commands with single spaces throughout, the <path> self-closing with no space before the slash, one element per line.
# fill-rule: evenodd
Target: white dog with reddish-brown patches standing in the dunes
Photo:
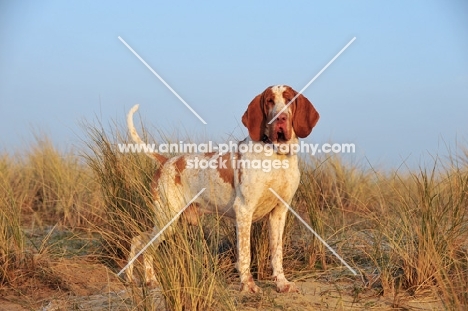
<path fill-rule="evenodd" d="M 291 87 L 276 85 L 268 87 L 256 96 L 242 117 L 242 123 L 249 131 L 249 137 L 239 142 L 238 146 L 250 144 L 251 146 L 260 145 L 255 147 L 267 145 L 281 147 L 298 144 L 298 138 L 308 136 L 317 123 L 319 114 L 303 95 L 299 95 L 284 112 L 268 124 L 296 95 L 297 92 Z M 143 144 L 133 125 L 133 114 L 137 109 L 138 106 L 134 106 L 130 110 L 127 122 L 132 139 L 135 143 Z M 267 155 L 263 152 L 233 151 L 226 154 L 190 154 L 172 158 L 152 154 L 152 157 L 160 163 L 160 169 L 156 172 L 152 185 L 154 207 L 158 219 L 155 219 L 156 224 L 151 232 L 133 238 L 130 259 L 202 188 L 206 188 L 206 191 L 185 210 L 185 218 L 196 223 L 201 213 L 217 213 L 234 219 L 237 230 L 239 254 L 237 269 L 240 274 L 241 291 L 256 293 L 260 290 L 250 273 L 250 231 L 252 222 L 263 217 L 268 217 L 269 221 L 270 258 L 277 291 L 297 291 L 295 284 L 289 282 L 283 273 L 282 241 L 288 209 L 269 190 L 272 188 L 285 202 L 291 203 L 300 178 L 296 154 L 272 152 Z M 187 165 L 200 159 L 223 160 L 227 165 L 215 169 L 189 168 Z M 239 160 L 242 160 L 240 161 L 242 164 L 236 165 L 240 163 Z M 281 165 L 267 171 L 247 164 L 255 161 L 263 163 L 265 160 L 277 161 L 276 163 L 281 163 Z M 170 236 L 173 230 L 174 225 L 169 227 L 155 244 Z M 155 282 L 152 258 L 146 253 L 143 254 L 143 258 L 146 281 Z M 131 280 L 133 265 L 130 265 L 126 272 L 127 278 Z"/>

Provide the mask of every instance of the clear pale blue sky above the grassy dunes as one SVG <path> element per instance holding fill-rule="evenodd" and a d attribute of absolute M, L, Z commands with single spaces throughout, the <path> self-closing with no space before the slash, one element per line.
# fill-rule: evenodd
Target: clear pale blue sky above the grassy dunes
<path fill-rule="evenodd" d="M 81 120 L 123 122 L 135 103 L 154 131 L 241 138 L 255 95 L 300 90 L 353 37 L 304 92 L 321 114 L 308 142 L 390 166 L 468 146 L 466 1 L 0 1 L 0 146 L 33 129 L 77 144 Z"/>

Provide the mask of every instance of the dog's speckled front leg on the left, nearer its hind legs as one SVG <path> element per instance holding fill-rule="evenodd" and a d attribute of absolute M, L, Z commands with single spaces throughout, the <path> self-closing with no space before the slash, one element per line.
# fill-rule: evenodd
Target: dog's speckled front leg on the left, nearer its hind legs
<path fill-rule="evenodd" d="M 241 279 L 241 292 L 258 293 L 261 291 L 250 273 L 250 230 L 252 227 L 252 214 L 246 213 L 246 209 L 237 209 L 237 270 Z"/>

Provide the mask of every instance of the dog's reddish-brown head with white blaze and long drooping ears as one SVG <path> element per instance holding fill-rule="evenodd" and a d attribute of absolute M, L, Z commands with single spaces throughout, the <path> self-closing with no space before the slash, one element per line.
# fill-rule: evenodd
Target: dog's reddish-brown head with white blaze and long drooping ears
<path fill-rule="evenodd" d="M 257 95 L 242 116 L 250 138 L 281 145 L 307 137 L 317 124 L 319 114 L 305 96 L 296 95 L 298 93 L 286 85 L 271 86 Z M 293 98 L 294 101 L 288 105 Z"/>

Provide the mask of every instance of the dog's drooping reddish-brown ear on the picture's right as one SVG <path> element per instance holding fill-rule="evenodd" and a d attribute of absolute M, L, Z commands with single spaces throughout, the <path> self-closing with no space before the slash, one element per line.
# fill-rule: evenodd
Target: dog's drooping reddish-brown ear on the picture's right
<path fill-rule="evenodd" d="M 292 119 L 294 132 L 299 138 L 307 137 L 317 124 L 320 115 L 312 103 L 302 94 L 296 98 L 294 105 L 295 111 Z"/>

